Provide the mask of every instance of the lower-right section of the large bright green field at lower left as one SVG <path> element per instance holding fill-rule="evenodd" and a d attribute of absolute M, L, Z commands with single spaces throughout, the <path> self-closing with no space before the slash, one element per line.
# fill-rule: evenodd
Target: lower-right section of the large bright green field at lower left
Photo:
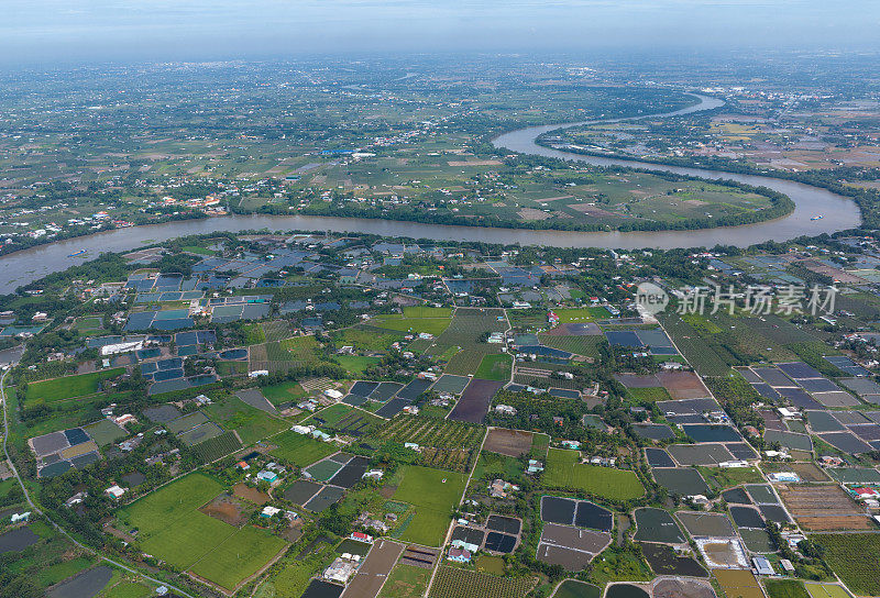
<path fill-rule="evenodd" d="M 227 589 L 234 589 L 260 571 L 285 545 L 282 539 L 245 525 L 205 555 L 191 571 Z"/>

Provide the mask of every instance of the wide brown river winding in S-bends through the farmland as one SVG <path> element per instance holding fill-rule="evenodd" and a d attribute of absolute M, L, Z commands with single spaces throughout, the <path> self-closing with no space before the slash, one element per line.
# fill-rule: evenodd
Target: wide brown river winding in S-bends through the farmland
<path fill-rule="evenodd" d="M 700 103 L 666 114 L 647 114 L 636 119 L 608 119 L 566 124 L 529 126 L 495 139 L 496 147 L 524 154 L 578 160 L 597 166 L 631 166 L 651 170 L 675 173 L 706 179 L 729 179 L 747 185 L 763 186 L 789 196 L 795 203 L 794 211 L 777 220 L 743 226 L 704 229 L 697 231 L 652 232 L 578 232 L 535 231 L 527 229 L 496 229 L 477 226 L 450 226 L 394 220 L 333 218 L 311 215 L 227 215 L 204 220 L 183 220 L 116 229 L 88 236 L 56 241 L 0 257 L 0 294 L 8 294 L 21 285 L 32 283 L 54 272 L 95 258 L 101 252 L 123 252 L 161 243 L 189 234 L 209 234 L 219 231 L 246 231 L 268 229 L 271 231 L 316 231 L 334 233 L 371 233 L 383 236 L 430 239 L 435 241 L 482 241 L 486 243 L 522 245 L 549 245 L 556 247 L 608 247 L 608 248 L 673 248 L 712 247 L 717 244 L 748 246 L 762 241 L 788 241 L 801 235 L 833 233 L 859 225 L 858 207 L 851 200 L 826 189 L 790 180 L 757 175 L 737 175 L 702 168 L 662 166 L 636 160 L 584 156 L 542 147 L 535 143 L 538 136 L 556 130 L 598 122 L 618 122 L 645 118 L 686 114 L 712 110 L 722 106 L 715 98 L 697 96 Z M 811 220 L 823 214 L 822 220 Z M 85 251 L 78 257 L 70 254 Z"/>

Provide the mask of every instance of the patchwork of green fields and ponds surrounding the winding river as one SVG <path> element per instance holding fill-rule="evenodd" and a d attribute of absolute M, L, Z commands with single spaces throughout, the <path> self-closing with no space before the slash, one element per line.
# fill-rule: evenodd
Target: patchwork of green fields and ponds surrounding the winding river
<path fill-rule="evenodd" d="M 3 258 L 7 284 L 23 286 L 0 297 L 0 362 L 14 364 L 2 380 L 0 586 L 16 598 L 77 586 L 140 598 L 160 583 L 206 598 L 880 593 L 865 506 L 880 480 L 878 69 L 826 60 L 609 58 L 586 71 L 526 56 L 336 57 L 0 75 L 2 252 L 103 229 L 107 248 L 139 245 L 99 255 L 88 237 L 72 242 L 79 256 L 54 245 L 24 267 L 28 253 Z M 708 85 L 726 102 L 716 112 L 539 143 L 784 167 L 850 193 L 864 230 L 732 248 L 730 229 L 713 248 L 610 252 L 482 242 L 497 230 L 460 243 L 292 232 L 278 219 L 238 234 L 210 220 L 608 231 L 779 215 L 785 200 L 755 189 L 486 142 L 676 110 L 698 101 L 678 90 Z M 109 230 L 169 220 L 210 232 Z M 646 280 L 671 297 L 659 324 L 634 309 Z M 691 313 L 678 290 L 707 280 L 747 283 L 751 298 L 772 289 L 771 309 L 739 295 L 715 310 L 710 289 Z M 776 309 L 788 285 L 804 307 L 832 280 L 825 319 Z M 777 443 L 791 459 L 768 455 Z M 785 473 L 801 481 L 771 476 Z M 697 494 L 708 505 L 689 510 L 681 497 Z M 12 521 L 24 511 L 30 521 Z M 813 546 L 782 554 L 771 522 Z M 695 543 L 700 555 L 672 547 Z M 133 572 L 105 566 L 110 553 Z M 346 553 L 369 556 L 343 587 L 324 576 Z M 755 554 L 795 571 L 756 579 Z"/>

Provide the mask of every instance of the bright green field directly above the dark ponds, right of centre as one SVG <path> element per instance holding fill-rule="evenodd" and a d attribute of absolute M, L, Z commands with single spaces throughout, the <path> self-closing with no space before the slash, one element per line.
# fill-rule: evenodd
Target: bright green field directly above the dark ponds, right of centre
<path fill-rule="evenodd" d="M 645 495 L 645 488 L 635 473 L 584 465 L 578 458 L 576 451 L 550 449 L 543 474 L 544 486 L 584 490 L 609 500 L 630 500 Z"/>

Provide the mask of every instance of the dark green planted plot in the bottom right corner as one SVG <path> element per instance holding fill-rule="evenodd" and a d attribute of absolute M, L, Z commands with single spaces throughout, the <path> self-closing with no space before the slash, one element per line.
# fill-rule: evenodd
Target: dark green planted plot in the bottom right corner
<path fill-rule="evenodd" d="M 825 562 L 854 594 L 880 596 L 880 534 L 815 534 L 811 540 L 825 549 Z"/>

